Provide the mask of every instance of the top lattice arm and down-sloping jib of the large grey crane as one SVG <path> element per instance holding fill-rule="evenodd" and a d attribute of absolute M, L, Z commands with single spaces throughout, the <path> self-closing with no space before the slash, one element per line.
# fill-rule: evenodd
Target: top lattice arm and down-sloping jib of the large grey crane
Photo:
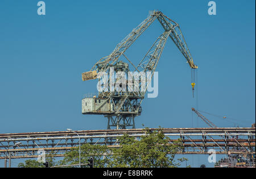
<path fill-rule="evenodd" d="M 134 43 L 135 40 L 141 36 L 141 34 L 155 21 L 158 19 L 160 24 L 163 26 L 166 32 L 170 32 L 169 36 L 174 41 L 177 48 L 183 54 L 187 63 L 189 64 L 190 68 L 197 69 L 198 66 L 193 63 L 193 59 L 191 53 L 188 49 L 187 43 L 184 39 L 184 36 L 180 30 L 179 24 L 177 24 L 174 20 L 171 20 L 166 15 L 164 15 L 161 11 L 154 11 L 152 14 L 148 16 L 139 26 L 133 29 L 129 35 L 126 36 L 117 46 L 115 47 L 114 51 L 110 53 L 109 56 L 101 58 L 97 61 L 96 64 L 93 65 L 93 70 L 99 71 L 106 71 L 110 64 L 114 64 L 119 60 L 119 57 L 125 53 L 125 51 L 130 47 L 131 44 Z M 95 79 L 95 78 L 92 78 Z M 83 80 L 87 80 L 83 78 Z M 89 79 L 90 80 L 90 79 Z"/>

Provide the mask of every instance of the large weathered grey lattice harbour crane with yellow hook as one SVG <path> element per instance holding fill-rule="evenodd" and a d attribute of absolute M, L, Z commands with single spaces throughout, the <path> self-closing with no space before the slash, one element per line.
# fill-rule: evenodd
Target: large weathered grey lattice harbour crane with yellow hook
<path fill-rule="evenodd" d="M 162 25 L 164 32 L 155 40 L 143 59 L 135 65 L 125 55 L 125 52 L 156 19 Z M 107 74 L 108 77 L 104 78 L 105 81 L 103 80 L 100 84 L 98 83 L 104 89 L 98 91 L 98 96 L 95 95 L 94 97 L 85 97 L 82 99 L 82 114 L 105 115 L 108 118 L 108 129 L 110 127 L 117 129 L 127 127 L 135 128 L 134 117 L 141 115 L 141 103 L 148 89 L 148 85 L 150 85 L 168 37 L 174 41 L 179 51 L 187 60 L 191 70 L 197 69 L 198 67 L 193 62 L 179 24 L 168 18 L 161 11 L 151 11 L 148 17 L 138 27 L 134 28 L 125 39 L 117 44 L 110 55 L 100 59 L 93 65 L 89 72 L 82 73 L 83 81 L 98 78 L 100 82 L 103 78 L 102 74 Z M 127 63 L 121 60 L 121 57 Z M 131 76 L 131 78 L 126 80 L 122 75 L 119 75 L 112 80 L 110 76 L 113 73 L 125 74 L 126 77 L 130 77 L 129 65 L 130 67 L 132 66 L 134 73 L 141 76 Z M 127 83 L 128 85 L 126 85 Z M 113 88 L 113 84 L 118 85 Z M 195 82 L 192 81 L 191 85 L 193 90 Z M 143 90 L 134 90 L 135 88 L 142 89 L 143 86 L 145 86 Z"/>

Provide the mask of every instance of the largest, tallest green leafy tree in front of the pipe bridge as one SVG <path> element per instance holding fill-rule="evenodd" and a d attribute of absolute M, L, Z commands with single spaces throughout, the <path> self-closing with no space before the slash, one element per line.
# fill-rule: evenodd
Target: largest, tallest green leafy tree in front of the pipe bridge
<path fill-rule="evenodd" d="M 180 140 L 170 144 L 170 139 L 164 136 L 161 128 L 154 132 L 146 128 L 141 140 L 135 140 L 134 137 L 125 134 L 118 138 L 118 141 L 121 147 L 113 149 L 110 167 L 167 168 L 180 165 L 174 160 L 175 154 L 182 148 Z"/>

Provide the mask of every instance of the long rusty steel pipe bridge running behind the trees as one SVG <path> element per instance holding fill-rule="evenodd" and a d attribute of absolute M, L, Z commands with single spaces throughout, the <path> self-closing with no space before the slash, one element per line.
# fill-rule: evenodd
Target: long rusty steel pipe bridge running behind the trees
<path fill-rule="evenodd" d="M 150 131 L 158 130 L 150 128 Z M 119 147 L 118 136 L 127 133 L 139 138 L 145 135 L 143 129 L 76 131 L 81 144 L 100 144 Z M 215 149 L 217 154 L 255 154 L 255 128 L 163 128 L 170 143 L 181 139 L 184 149 L 180 154 L 208 154 Z M 18 146 L 11 147 L 20 142 Z M 46 155 L 63 156 L 65 152 L 79 145 L 79 137 L 73 132 L 32 132 L 0 134 L 0 159 L 11 153 L 11 158 L 38 157 L 40 149 Z"/>

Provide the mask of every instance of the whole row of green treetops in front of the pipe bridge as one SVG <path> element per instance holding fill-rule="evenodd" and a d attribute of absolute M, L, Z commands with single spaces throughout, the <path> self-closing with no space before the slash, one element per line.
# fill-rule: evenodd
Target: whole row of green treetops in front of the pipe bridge
<path fill-rule="evenodd" d="M 185 158 L 174 160 L 175 154 L 182 149 L 181 141 L 170 143 L 170 138 L 164 136 L 162 129 L 150 131 L 145 128 L 144 135 L 137 139 L 125 134 L 118 138 L 118 148 L 106 145 L 81 145 L 81 164 L 88 164 L 93 157 L 94 167 L 177 167 Z M 53 157 L 48 159 L 50 166 L 79 164 L 79 147 L 65 153 L 64 159 L 54 163 Z M 26 160 L 19 167 L 44 167 L 35 160 Z M 79 167 L 70 166 L 70 167 Z M 88 167 L 82 165 L 82 167 Z"/>

